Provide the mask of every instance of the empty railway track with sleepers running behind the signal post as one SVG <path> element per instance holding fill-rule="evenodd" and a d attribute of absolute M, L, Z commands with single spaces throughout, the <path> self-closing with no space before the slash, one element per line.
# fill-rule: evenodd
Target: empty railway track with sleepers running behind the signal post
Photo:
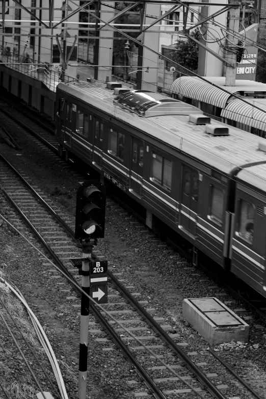
<path fill-rule="evenodd" d="M 29 181 L 26 181 L 2 156 L 0 181 L 6 199 L 15 206 L 20 217 L 23 218 L 22 222 L 20 217 L 13 214 L 10 215 L 10 222 L 18 229 L 24 229 L 22 223 L 26 222 L 44 246 L 49 258 L 70 278 L 70 283 L 77 282 L 81 285 L 81 276 L 77 275 L 76 269 L 71 269 L 69 263 L 69 257 L 78 257 L 81 254 L 81 248 L 74 240 L 72 218 L 67 214 L 62 215 L 61 210 L 54 209 L 52 202 L 45 200 L 45 196 L 39 192 L 38 188 L 33 188 Z M 114 206 L 112 202 L 110 205 Z M 6 207 L 8 208 L 9 205 L 6 204 Z M 97 256 L 100 257 L 100 253 L 94 251 L 93 257 L 97 259 Z M 47 269 L 49 266 L 50 264 L 44 261 L 43 267 Z M 57 270 L 47 270 L 51 281 L 55 281 L 56 277 L 61 278 L 60 275 L 55 275 L 55 272 Z M 170 398 L 174 394 L 186 395 L 191 392 L 191 388 L 184 386 L 184 381 L 187 381 L 196 391 L 203 393 L 204 397 L 225 399 L 223 392 L 229 389 L 230 384 L 228 385 L 227 381 L 224 383 L 220 381 L 219 374 L 223 366 L 218 359 L 214 359 L 210 352 L 204 351 L 202 356 L 197 356 L 197 361 L 193 361 L 195 353 L 192 349 L 190 352 L 193 342 L 182 342 L 180 335 L 172 331 L 173 327 L 166 323 L 164 317 L 152 317 L 151 314 L 155 312 L 155 309 L 148 307 L 145 293 L 135 292 L 134 285 L 128 286 L 130 281 L 126 281 L 124 277 L 126 276 L 121 276 L 121 274 L 115 276 L 109 272 L 109 281 L 112 285 L 109 286 L 109 303 L 104 305 L 104 308 L 113 316 L 119 317 L 125 327 L 134 332 L 154 354 L 167 364 L 171 364 L 172 369 L 180 376 L 179 378 L 171 375 L 170 371 L 165 366 L 159 365 L 158 360 L 153 359 L 152 356 L 143 356 L 143 347 L 138 342 L 134 342 L 132 337 L 124 333 L 121 328 L 115 328 L 109 316 L 104 316 L 97 307 L 91 305 L 91 311 L 96 321 L 101 324 L 101 329 L 97 328 L 96 321 L 91 317 L 90 333 L 96 341 L 102 343 L 103 349 L 107 351 L 113 350 L 115 344 L 134 365 L 135 371 L 141 377 L 141 382 L 135 379 L 127 381 L 127 384 L 136 391 L 136 395 L 141 397 L 153 394 L 160 399 Z M 77 297 L 72 298 L 75 301 L 78 299 L 79 291 L 75 287 L 74 289 Z M 140 300 L 137 301 L 136 297 Z M 141 300 L 141 297 L 144 299 Z M 122 301 L 121 298 L 123 298 Z M 80 305 L 74 303 L 73 306 Z M 111 339 L 102 337 L 103 334 L 108 334 Z M 209 370 L 209 366 L 216 372 L 208 373 L 206 370 Z M 216 380 L 221 383 L 216 383 Z M 229 373 L 228 381 L 231 383 L 231 380 L 232 376 Z M 143 389 L 142 381 L 148 389 Z"/>

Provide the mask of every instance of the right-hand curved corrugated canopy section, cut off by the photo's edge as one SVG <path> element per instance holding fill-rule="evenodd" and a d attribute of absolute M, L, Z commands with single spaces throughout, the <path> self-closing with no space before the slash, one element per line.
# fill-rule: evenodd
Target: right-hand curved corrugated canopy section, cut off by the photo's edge
<path fill-rule="evenodd" d="M 222 110 L 221 116 L 236 122 L 244 123 L 245 125 L 256 127 L 257 129 L 266 130 L 266 99 L 255 98 L 251 100 L 247 97 L 245 97 L 245 99 L 250 102 L 250 104 L 234 98 L 226 105 L 225 109 Z M 265 110 L 265 112 L 252 107 L 252 104 L 257 105 L 257 107 Z"/>

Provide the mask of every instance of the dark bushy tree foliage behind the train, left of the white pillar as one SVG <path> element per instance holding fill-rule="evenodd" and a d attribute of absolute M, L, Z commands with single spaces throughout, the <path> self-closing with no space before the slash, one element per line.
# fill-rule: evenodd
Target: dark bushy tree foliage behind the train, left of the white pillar
<path fill-rule="evenodd" d="M 193 31 L 191 36 L 199 40 L 199 30 L 196 29 Z M 199 56 L 198 44 L 191 39 L 178 40 L 175 47 L 176 50 L 172 51 L 172 60 L 193 72 L 197 72 Z"/>

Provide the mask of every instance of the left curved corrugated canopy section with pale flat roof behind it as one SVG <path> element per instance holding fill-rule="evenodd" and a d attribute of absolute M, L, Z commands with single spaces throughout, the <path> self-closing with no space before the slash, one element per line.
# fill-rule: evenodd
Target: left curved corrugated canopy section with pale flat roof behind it
<path fill-rule="evenodd" d="M 230 93 L 244 91 L 246 93 L 266 92 L 266 84 L 254 81 L 235 80 L 235 86 L 225 86 L 224 76 L 206 76 L 210 83 L 224 87 Z M 202 81 L 197 76 L 181 76 L 178 77 L 171 86 L 171 93 L 181 94 L 185 97 L 194 98 L 216 107 L 225 108 L 229 93 L 226 93 L 215 86 L 211 86 L 207 82 Z"/>

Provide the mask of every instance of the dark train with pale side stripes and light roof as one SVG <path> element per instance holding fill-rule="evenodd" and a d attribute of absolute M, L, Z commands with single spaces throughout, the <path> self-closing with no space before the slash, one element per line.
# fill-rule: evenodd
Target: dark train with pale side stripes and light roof
<path fill-rule="evenodd" d="M 266 141 L 162 93 L 60 83 L 59 150 L 82 159 L 185 240 L 266 297 Z"/>

